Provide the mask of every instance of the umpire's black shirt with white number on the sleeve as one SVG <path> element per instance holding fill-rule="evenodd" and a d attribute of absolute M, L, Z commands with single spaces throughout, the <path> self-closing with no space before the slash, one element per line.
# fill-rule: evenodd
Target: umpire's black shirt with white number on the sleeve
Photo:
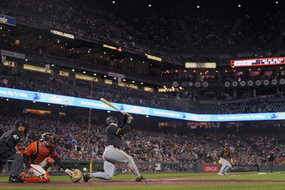
<path fill-rule="evenodd" d="M 18 145 L 21 138 L 21 132 L 18 129 L 10 129 L 0 138 L 0 145 L 12 148 L 16 152 L 15 146 Z"/>

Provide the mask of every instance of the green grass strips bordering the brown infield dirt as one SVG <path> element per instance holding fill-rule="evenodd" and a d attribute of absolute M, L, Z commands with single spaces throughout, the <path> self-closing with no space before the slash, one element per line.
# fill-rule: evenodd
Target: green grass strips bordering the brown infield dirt
<path fill-rule="evenodd" d="M 183 185 L 183 186 L 141 186 L 140 190 L 166 190 L 166 189 L 181 189 L 181 190 L 212 190 L 212 189 L 223 189 L 223 190 L 267 190 L 267 189 L 285 189 L 285 183 L 235 183 L 235 180 L 272 180 L 272 181 L 284 181 L 284 173 L 274 173 L 274 174 L 257 174 L 257 172 L 229 172 L 229 175 L 224 176 L 209 176 L 216 175 L 216 173 L 159 173 L 152 174 L 147 173 L 143 174 L 148 179 L 157 178 L 170 178 L 170 177 L 188 177 L 188 176 L 197 176 L 197 178 L 188 178 L 184 180 L 233 180 L 231 182 L 225 182 L 225 184 L 219 185 Z M 245 175 L 246 174 L 246 175 Z M 198 177 L 199 176 L 199 177 Z M 202 176 L 202 177 L 201 177 Z M 207 177 L 209 176 L 209 177 Z M 9 177 L 0 177 L 0 181 L 8 181 Z M 134 179 L 133 174 L 118 174 L 114 176 L 111 180 L 125 180 L 125 179 Z M 51 176 L 52 181 L 70 181 L 69 176 L 60 175 L 60 176 Z M 99 179 L 90 179 L 90 180 L 99 180 Z M 44 186 L 44 184 L 43 184 Z M 0 190 L 78 190 L 78 189 L 102 189 L 102 190 L 137 190 L 137 187 L 1 187 Z"/>

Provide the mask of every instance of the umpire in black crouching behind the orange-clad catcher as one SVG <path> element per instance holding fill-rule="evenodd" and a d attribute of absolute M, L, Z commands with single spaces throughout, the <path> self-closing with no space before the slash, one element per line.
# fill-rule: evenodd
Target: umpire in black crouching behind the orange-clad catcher
<path fill-rule="evenodd" d="M 26 137 L 29 129 L 30 124 L 28 121 L 18 120 L 15 123 L 15 129 L 10 129 L 0 138 L 0 169 L 5 166 L 8 159 L 13 160 L 9 183 L 23 183 L 23 180 L 18 178 L 23 156 L 21 153 L 16 153 L 15 146 L 18 145 L 22 133 Z"/>

